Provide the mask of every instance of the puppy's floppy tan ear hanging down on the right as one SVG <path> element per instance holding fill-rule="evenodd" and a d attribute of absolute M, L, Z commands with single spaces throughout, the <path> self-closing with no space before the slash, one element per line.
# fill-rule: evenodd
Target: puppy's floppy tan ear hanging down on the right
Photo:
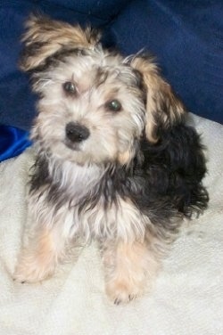
<path fill-rule="evenodd" d="M 178 123 L 186 108 L 161 78 L 151 57 L 136 56 L 130 65 L 141 73 L 146 89 L 145 135 L 151 143 L 157 143 L 161 129 Z"/>

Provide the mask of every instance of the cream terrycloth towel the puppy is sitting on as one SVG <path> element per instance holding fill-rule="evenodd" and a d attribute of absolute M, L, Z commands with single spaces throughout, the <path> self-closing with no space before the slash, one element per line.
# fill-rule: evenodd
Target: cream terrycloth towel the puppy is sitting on
<path fill-rule="evenodd" d="M 52 279 L 12 282 L 32 150 L 0 165 L 1 335 L 223 334 L 223 127 L 198 117 L 194 125 L 207 145 L 210 206 L 183 229 L 153 292 L 128 306 L 114 306 L 105 296 L 94 244 Z"/>

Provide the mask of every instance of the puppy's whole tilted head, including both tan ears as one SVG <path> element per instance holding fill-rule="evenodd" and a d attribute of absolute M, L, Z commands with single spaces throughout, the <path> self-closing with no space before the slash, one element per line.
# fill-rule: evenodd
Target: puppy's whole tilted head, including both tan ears
<path fill-rule="evenodd" d="M 63 160 L 126 165 L 144 136 L 159 142 L 185 109 L 151 58 L 103 50 L 100 37 L 94 29 L 29 18 L 21 69 L 39 94 L 32 138 Z"/>

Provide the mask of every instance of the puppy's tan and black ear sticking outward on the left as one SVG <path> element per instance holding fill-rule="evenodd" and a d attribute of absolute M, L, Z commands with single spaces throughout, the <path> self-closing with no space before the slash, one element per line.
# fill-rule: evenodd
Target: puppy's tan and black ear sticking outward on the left
<path fill-rule="evenodd" d="M 25 47 L 21 53 L 20 68 L 24 71 L 44 66 L 45 61 L 61 50 L 93 48 L 101 34 L 96 29 L 81 29 L 59 20 L 31 14 L 22 37 Z"/>

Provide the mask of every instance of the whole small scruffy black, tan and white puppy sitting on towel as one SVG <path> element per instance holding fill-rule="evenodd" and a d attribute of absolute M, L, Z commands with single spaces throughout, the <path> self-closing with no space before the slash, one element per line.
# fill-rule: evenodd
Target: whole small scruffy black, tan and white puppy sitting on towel
<path fill-rule="evenodd" d="M 182 219 L 207 207 L 200 137 L 153 59 L 104 49 L 101 34 L 30 16 L 21 69 L 38 94 L 29 241 L 14 278 L 54 274 L 94 239 L 116 304 L 141 295 Z"/>

